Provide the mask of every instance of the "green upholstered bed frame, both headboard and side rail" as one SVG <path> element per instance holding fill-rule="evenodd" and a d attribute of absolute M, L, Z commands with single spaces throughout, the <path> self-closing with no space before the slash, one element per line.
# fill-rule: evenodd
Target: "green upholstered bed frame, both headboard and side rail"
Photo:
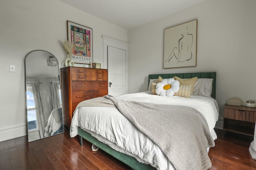
<path fill-rule="evenodd" d="M 192 78 L 192 77 L 198 77 L 198 78 L 213 78 L 212 82 L 212 98 L 215 99 L 216 95 L 216 72 L 198 72 L 198 73 L 176 73 L 176 74 L 150 74 L 148 75 L 148 83 L 150 79 L 156 79 L 158 76 L 161 76 L 162 78 L 173 78 L 174 76 L 178 76 L 180 78 Z M 83 139 L 86 139 L 90 143 L 94 144 L 95 146 L 99 147 L 100 149 L 104 150 L 108 154 L 114 156 L 114 158 L 117 158 L 118 160 L 124 162 L 128 166 L 130 166 L 134 170 L 156 170 L 156 168 L 148 165 L 143 164 L 141 162 L 138 162 L 134 157 L 126 155 L 124 153 L 118 152 L 112 148 L 110 148 L 108 145 L 98 141 L 95 137 L 92 137 L 90 133 L 82 130 L 80 127 L 78 127 L 78 135 L 80 136 L 80 145 L 83 145 Z"/>

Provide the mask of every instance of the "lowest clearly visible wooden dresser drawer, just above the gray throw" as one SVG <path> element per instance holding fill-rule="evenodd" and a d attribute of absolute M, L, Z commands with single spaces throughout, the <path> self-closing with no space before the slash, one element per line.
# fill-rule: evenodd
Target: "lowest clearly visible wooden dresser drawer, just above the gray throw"
<path fill-rule="evenodd" d="M 108 89 L 106 90 L 86 90 L 86 91 L 76 91 L 72 92 L 72 102 L 82 102 L 91 98 L 98 98 L 108 94 Z"/>

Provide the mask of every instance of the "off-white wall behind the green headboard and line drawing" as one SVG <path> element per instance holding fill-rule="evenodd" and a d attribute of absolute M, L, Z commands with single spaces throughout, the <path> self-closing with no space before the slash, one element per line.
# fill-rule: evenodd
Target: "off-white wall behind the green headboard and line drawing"
<path fill-rule="evenodd" d="M 128 31 L 128 92 L 148 88 L 148 74 L 216 71 L 216 100 L 256 100 L 256 1 L 206 0 Z M 163 68 L 164 29 L 198 20 L 197 66 Z M 220 125 L 222 126 L 222 125 Z"/>

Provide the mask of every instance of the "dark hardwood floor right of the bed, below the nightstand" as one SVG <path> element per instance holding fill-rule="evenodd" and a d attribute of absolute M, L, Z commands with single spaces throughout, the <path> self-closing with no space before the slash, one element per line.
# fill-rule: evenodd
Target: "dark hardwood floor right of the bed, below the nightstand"
<path fill-rule="evenodd" d="M 229 132 L 225 137 L 225 131 L 215 131 L 218 139 L 208 153 L 212 161 L 210 170 L 256 170 L 256 160 L 249 152 L 252 136 Z"/>

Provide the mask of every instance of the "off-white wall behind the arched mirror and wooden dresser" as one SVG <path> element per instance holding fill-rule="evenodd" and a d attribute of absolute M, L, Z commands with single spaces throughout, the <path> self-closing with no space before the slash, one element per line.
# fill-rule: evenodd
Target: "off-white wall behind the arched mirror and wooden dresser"
<path fill-rule="evenodd" d="M 94 61 L 103 63 L 102 35 L 127 42 L 127 30 L 76 10 L 58 0 L 0 2 L 0 141 L 26 135 L 24 59 L 33 50 L 52 53 L 63 67 L 61 42 L 66 21 L 93 29 Z M 36 64 L 36 63 L 35 63 Z M 16 72 L 9 72 L 9 65 Z"/>

